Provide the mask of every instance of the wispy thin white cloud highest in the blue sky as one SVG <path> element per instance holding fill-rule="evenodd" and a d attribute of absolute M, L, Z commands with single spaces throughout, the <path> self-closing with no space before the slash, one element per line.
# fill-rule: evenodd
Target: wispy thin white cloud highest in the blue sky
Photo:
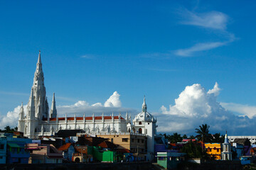
<path fill-rule="evenodd" d="M 227 28 L 228 16 L 219 11 L 193 13 L 185 9 L 182 11 L 181 15 L 184 18 L 184 21 L 181 21 L 182 24 L 217 30 L 225 30 Z"/>

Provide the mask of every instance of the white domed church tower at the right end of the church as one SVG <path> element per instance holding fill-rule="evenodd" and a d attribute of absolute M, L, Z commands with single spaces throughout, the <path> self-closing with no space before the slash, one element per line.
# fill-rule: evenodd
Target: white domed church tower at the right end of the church
<path fill-rule="evenodd" d="M 147 159 L 154 159 L 154 136 L 156 135 L 156 119 L 147 112 L 146 98 L 142 104 L 142 112 L 137 114 L 133 120 L 132 132 L 146 135 Z"/>

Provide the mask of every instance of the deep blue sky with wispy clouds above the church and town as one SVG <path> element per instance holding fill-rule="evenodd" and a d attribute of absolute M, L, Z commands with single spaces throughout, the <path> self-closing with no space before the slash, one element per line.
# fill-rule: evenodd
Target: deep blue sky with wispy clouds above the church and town
<path fill-rule="evenodd" d="M 0 114 L 28 102 L 41 50 L 47 96 L 55 92 L 59 107 L 105 103 L 117 91 L 118 107 L 136 114 L 146 95 L 149 112 L 164 124 L 186 86 L 200 84 L 207 93 L 218 82 L 216 102 L 250 122 L 255 8 L 254 1 L 1 1 Z M 174 130 L 216 126 L 207 121 Z M 244 128 L 238 132 L 252 127 Z"/>

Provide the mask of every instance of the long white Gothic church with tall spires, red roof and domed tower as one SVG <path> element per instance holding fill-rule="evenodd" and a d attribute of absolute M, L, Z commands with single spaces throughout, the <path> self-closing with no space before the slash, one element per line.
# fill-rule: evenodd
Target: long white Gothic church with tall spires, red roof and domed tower
<path fill-rule="evenodd" d="M 119 114 L 114 116 L 91 117 L 67 117 L 58 118 L 55 106 L 55 94 L 49 107 L 46 97 L 46 87 L 44 85 L 43 69 L 41 62 L 41 52 L 39 51 L 36 72 L 31 88 L 31 96 L 28 101 L 27 113 L 24 113 L 23 104 L 18 116 L 18 131 L 23 132 L 25 137 L 38 139 L 40 136 L 55 135 L 58 130 L 84 130 L 93 134 L 97 132 L 132 132 L 144 134 L 147 137 L 149 152 L 154 152 L 154 137 L 156 135 L 156 119 L 146 111 L 146 101 L 142 104 L 142 112 L 131 120 L 131 115 L 126 114 L 125 118 Z"/>

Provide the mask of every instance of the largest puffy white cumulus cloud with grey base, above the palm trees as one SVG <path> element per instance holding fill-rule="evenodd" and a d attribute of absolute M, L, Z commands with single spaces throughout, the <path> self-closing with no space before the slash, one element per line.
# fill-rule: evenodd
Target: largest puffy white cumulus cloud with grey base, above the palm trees
<path fill-rule="evenodd" d="M 210 132 L 230 135 L 252 135 L 255 130 L 255 116 L 250 118 L 243 112 L 243 116 L 235 115 L 223 108 L 217 101 L 220 94 L 218 83 L 213 89 L 206 91 L 201 84 L 193 84 L 186 88 L 175 99 L 175 105 L 161 106 L 161 113 L 157 115 L 159 132 L 180 132 L 193 134 L 195 128 L 207 123 Z"/>

